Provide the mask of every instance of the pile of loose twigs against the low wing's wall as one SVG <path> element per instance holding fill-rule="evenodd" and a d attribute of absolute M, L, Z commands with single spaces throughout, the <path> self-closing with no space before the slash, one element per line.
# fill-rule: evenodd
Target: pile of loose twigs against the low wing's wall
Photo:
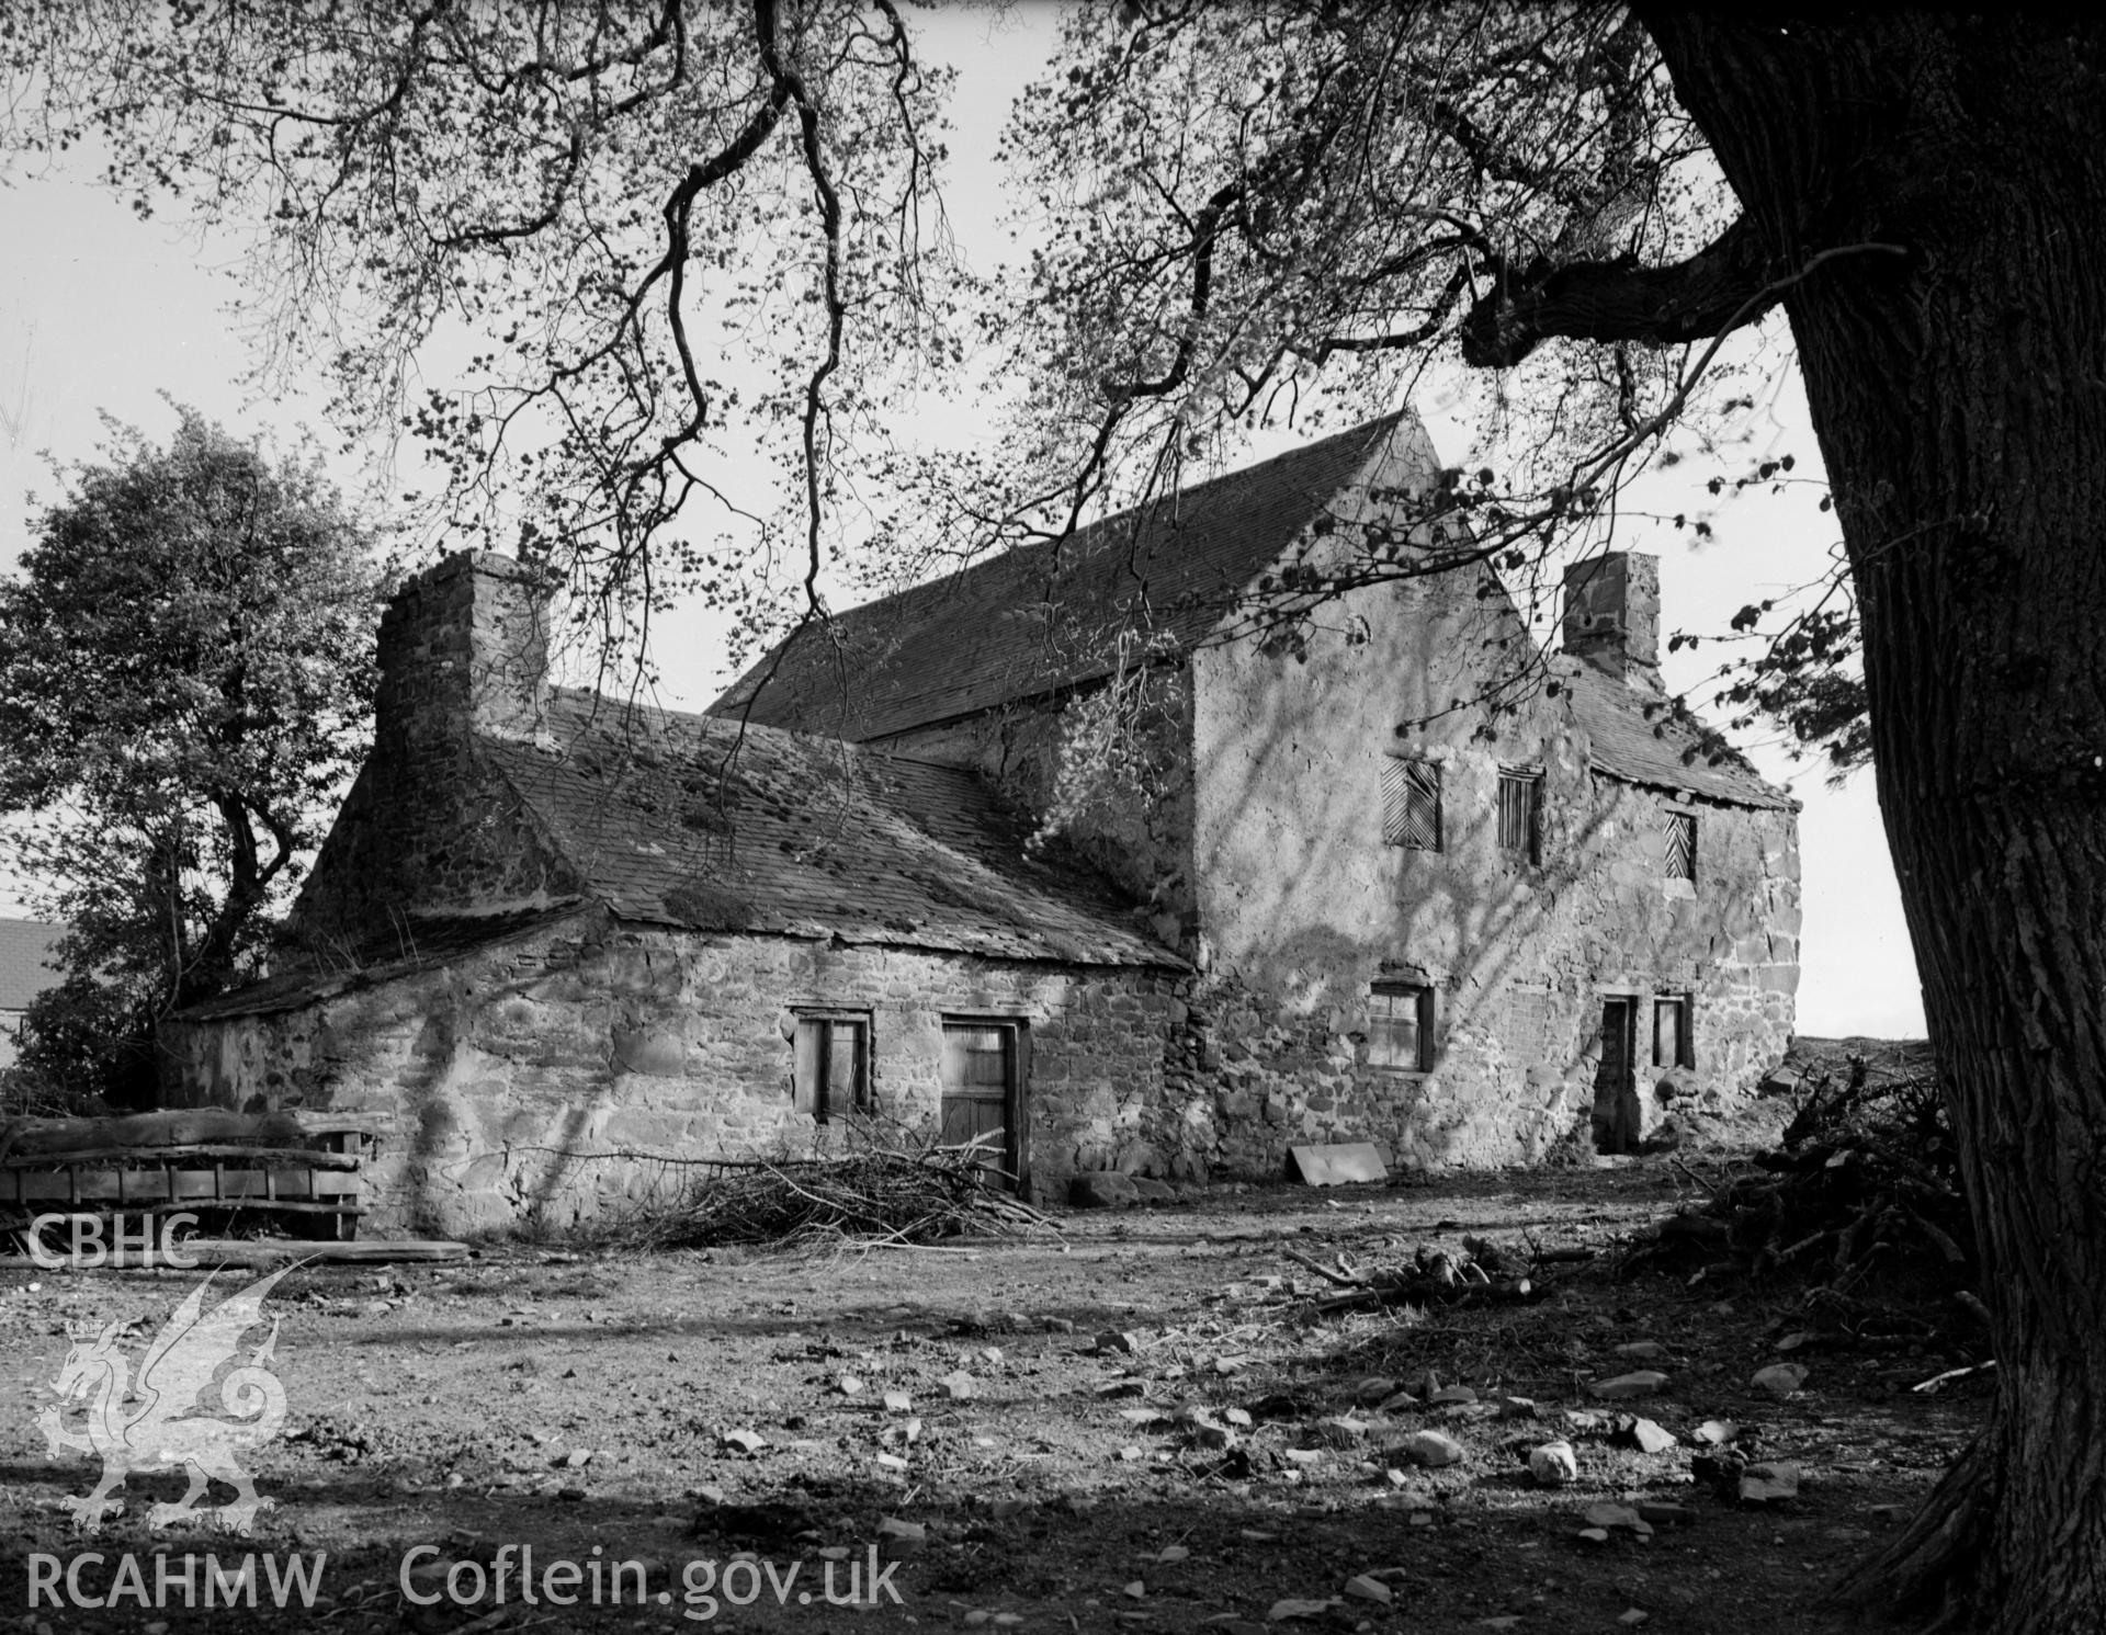
<path fill-rule="evenodd" d="M 836 1157 L 724 1159 L 630 1210 L 609 1239 L 623 1248 L 826 1248 L 1057 1231 L 1005 1180 L 969 1147 L 866 1145 Z"/>

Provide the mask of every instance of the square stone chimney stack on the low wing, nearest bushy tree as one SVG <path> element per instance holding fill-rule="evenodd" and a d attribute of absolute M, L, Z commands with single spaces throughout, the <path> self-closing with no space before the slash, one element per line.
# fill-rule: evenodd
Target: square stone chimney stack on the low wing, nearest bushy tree
<path fill-rule="evenodd" d="M 375 736 L 411 764 L 470 736 L 545 736 L 548 602 L 539 570 L 495 551 L 455 551 L 411 579 L 381 617 Z"/>

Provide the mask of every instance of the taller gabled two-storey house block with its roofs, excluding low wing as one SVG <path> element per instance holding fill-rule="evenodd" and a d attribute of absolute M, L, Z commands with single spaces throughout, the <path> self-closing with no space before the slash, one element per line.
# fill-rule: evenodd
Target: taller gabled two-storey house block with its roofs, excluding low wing
<path fill-rule="evenodd" d="M 1662 690 L 1651 558 L 1575 566 L 1554 654 L 1487 572 L 1274 617 L 1436 482 L 1415 417 L 1373 421 L 855 608 L 718 701 L 971 768 L 1150 907 L 1194 968 L 1163 1101 L 1064 1164 L 1620 1149 L 1784 1054 L 1796 806 Z"/>

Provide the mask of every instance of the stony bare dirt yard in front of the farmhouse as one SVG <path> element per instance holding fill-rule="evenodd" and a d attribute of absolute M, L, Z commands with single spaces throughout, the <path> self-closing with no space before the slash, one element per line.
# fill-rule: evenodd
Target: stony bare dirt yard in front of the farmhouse
<path fill-rule="evenodd" d="M 1830 1336 L 1792 1351 L 1809 1368 L 1796 1395 L 1754 1391 L 1777 1340 L 1811 1328 L 1790 1288 L 1613 1275 L 1613 1246 L 1697 1193 L 1706 1168 L 1655 1157 L 1327 1193 L 1217 1187 L 1184 1206 L 1068 1216 L 1066 1242 L 950 1252 L 508 1248 L 451 1267 L 299 1269 L 267 1305 L 289 1414 L 251 1458 L 276 1507 L 249 1540 L 150 1532 L 145 1507 L 177 1498 L 173 1477 L 133 1477 L 128 1513 L 78 1532 L 63 1498 L 86 1492 L 95 1467 L 53 1458 L 34 1422 L 69 1336 L 126 1324 L 137 1357 L 196 1275 L 0 1263 L 13 1393 L 0 1627 L 1849 1629 L 1815 1610 L 1820 1587 L 1900 1526 L 1982 1410 L 1978 1382 L 1910 1387 L 1980 1357 Z M 1462 1233 L 1603 1254 L 1558 1269 L 1535 1305 L 1335 1317 L 1314 1315 L 1329 1290 L 1285 1254 L 1400 1260 Z M 249 1277 L 223 1273 L 215 1290 Z M 1099 1349 L 1106 1330 L 1133 1351 Z M 1645 1340 L 1664 1355 L 1617 1351 Z M 1588 1395 L 1632 1368 L 1668 1380 L 1638 1401 Z M 941 1380 L 960 1372 L 969 1395 L 952 1397 Z M 1483 1399 L 1375 1406 L 1428 1372 Z M 1533 1416 L 1499 1397 L 1531 1399 Z M 1217 1410 L 1228 1435 L 1179 1422 L 1192 1406 Z M 1251 1425 L 1228 1425 L 1230 1408 Z M 1617 1412 L 1676 1446 L 1624 1446 Z M 1796 1462 L 1799 1496 L 1742 1507 L 1731 1483 L 1695 1477 L 1704 1450 L 1689 1433 L 1714 1418 L 1737 1422 L 1752 1458 Z M 1453 1435 L 1462 1462 L 1390 1452 L 1422 1429 Z M 752 1452 L 731 1433 L 752 1433 Z M 1527 1450 L 1561 1435 L 1580 1479 L 1537 1488 Z M 1582 1538 L 1605 1500 L 1687 1517 L 1655 1511 L 1651 1534 Z M 899 1566 L 878 1606 L 828 1606 L 828 1566 L 836 1597 L 857 1566 L 868 1599 L 887 1517 L 925 1536 L 882 1542 L 885 1566 Z M 499 1551 L 529 1545 L 537 1593 L 550 1563 L 577 1563 L 577 1606 L 520 1599 L 520 1557 Z M 400 1593 L 419 1547 L 436 1547 L 413 1557 L 440 1566 L 413 1578 L 434 1606 Z M 103 1561 L 78 1566 L 78 1595 L 63 1576 L 48 1589 L 88 1551 Z M 263 1606 L 206 1610 L 202 1582 L 183 1606 L 183 1557 L 198 1578 L 204 1555 L 225 1566 L 249 1551 Z M 263 1568 L 318 1551 L 312 1608 L 272 1610 Z M 754 1559 L 733 1566 L 741 1551 Z M 114 1578 L 126 1555 L 143 1595 Z M 590 1606 L 592 1572 L 611 1559 L 647 1563 L 642 1606 L 634 1574 L 621 1606 Z M 449 1561 L 474 1563 L 455 1574 L 472 1606 L 446 1597 Z M 173 1574 L 160 1606 L 156 1568 Z M 80 1603 L 112 1589 L 105 1606 Z M 758 1599 L 739 1606 L 748 1591 Z"/>

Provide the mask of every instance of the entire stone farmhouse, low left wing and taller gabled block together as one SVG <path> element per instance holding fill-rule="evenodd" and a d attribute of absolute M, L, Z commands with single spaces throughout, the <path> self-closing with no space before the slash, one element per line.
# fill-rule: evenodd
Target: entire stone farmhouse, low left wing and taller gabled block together
<path fill-rule="evenodd" d="M 545 587 L 449 558 L 278 972 L 166 1025 L 166 1096 L 392 1113 L 371 1223 L 421 1231 L 866 1124 L 1034 1195 L 1643 1141 L 1788 1044 L 1796 808 L 1662 692 L 1647 558 L 1573 572 L 1556 654 L 1476 572 L 1283 589 L 1434 482 L 1415 419 L 1354 427 L 708 715 L 550 686 Z"/>

